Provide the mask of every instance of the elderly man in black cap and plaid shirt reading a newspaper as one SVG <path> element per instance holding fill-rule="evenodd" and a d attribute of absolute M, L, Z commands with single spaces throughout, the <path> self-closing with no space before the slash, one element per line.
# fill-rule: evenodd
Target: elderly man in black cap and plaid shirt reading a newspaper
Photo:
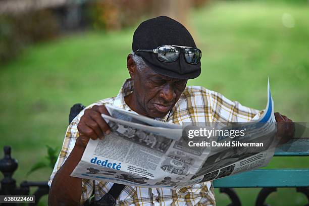
<path fill-rule="evenodd" d="M 115 193 L 110 182 L 71 177 L 89 139 L 111 132 L 101 114 L 111 104 L 137 114 L 173 124 L 186 122 L 248 122 L 259 111 L 241 106 L 200 86 L 186 87 L 199 76 L 201 51 L 187 29 L 169 17 L 142 22 L 133 36 L 133 52 L 127 57 L 130 79 L 116 97 L 99 100 L 82 111 L 68 127 L 55 169 L 50 176 L 49 205 L 83 204 L 92 194 L 100 200 Z M 276 114 L 276 120 L 290 122 Z M 291 128 L 282 128 L 282 134 Z M 112 188 L 112 189 L 111 189 Z M 112 190 L 112 192 L 111 192 Z M 178 190 L 124 186 L 116 205 L 215 205 L 211 182 Z"/>

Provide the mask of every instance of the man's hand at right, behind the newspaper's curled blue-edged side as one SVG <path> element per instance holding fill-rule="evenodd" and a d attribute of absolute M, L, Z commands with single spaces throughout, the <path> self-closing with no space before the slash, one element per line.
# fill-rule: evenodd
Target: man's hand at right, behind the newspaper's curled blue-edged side
<path fill-rule="evenodd" d="M 279 144 L 284 144 L 294 136 L 294 123 L 292 120 L 284 115 L 280 115 L 278 112 L 276 112 L 274 115 L 278 126 L 276 137 L 279 140 Z"/>

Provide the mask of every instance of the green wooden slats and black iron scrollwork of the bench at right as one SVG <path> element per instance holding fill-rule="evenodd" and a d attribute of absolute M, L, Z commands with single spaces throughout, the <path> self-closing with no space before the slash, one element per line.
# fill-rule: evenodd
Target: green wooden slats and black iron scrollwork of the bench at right
<path fill-rule="evenodd" d="M 278 147 L 275 156 L 309 156 L 309 138 L 300 138 Z M 256 197 L 255 205 L 267 205 L 268 195 L 278 187 L 295 187 L 297 192 L 306 195 L 309 202 L 309 165 L 306 169 L 259 169 L 214 180 L 214 187 L 226 193 L 232 203 L 229 206 L 241 205 L 233 188 L 260 187 L 262 190 Z M 309 206 L 309 203 L 306 204 Z"/>

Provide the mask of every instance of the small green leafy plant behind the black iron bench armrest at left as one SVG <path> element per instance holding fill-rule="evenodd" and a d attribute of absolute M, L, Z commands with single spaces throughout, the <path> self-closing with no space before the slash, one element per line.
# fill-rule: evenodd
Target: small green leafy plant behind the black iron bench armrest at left
<path fill-rule="evenodd" d="M 36 170 L 42 169 L 42 168 L 50 168 L 54 169 L 54 166 L 57 162 L 58 158 L 58 147 L 52 148 L 48 145 L 45 145 L 47 147 L 47 156 L 45 156 L 45 160 L 35 163 L 30 171 L 27 173 L 27 176 L 31 173 L 33 173 Z"/>

